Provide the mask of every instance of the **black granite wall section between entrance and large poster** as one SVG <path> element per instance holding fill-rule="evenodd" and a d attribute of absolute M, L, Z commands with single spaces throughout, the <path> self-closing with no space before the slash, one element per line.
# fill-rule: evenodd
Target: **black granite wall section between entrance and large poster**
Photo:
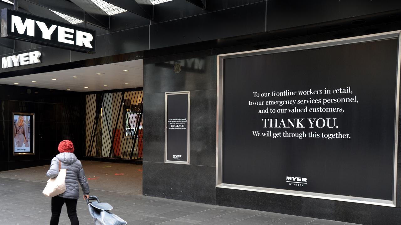
<path fill-rule="evenodd" d="M 206 55 L 144 64 L 144 195 L 216 203 L 217 58 Z M 180 73 L 171 60 L 180 62 Z M 190 165 L 164 163 L 164 92 L 184 90 L 190 90 Z"/>

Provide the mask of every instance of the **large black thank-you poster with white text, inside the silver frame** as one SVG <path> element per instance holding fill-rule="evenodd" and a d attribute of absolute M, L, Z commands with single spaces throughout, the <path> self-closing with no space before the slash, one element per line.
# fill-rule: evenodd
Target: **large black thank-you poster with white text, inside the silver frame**
<path fill-rule="evenodd" d="M 226 58 L 226 184 L 393 200 L 397 39 Z"/>

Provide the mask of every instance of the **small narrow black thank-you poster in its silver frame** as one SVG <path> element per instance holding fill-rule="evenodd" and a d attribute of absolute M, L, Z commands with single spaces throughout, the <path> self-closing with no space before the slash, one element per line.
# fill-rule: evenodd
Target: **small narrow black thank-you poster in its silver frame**
<path fill-rule="evenodd" d="M 166 93 L 166 163 L 189 164 L 189 91 Z"/>

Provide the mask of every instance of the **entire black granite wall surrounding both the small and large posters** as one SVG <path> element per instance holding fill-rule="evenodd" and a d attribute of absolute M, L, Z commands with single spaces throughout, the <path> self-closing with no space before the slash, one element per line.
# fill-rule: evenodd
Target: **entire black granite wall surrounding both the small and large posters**
<path fill-rule="evenodd" d="M 241 50 L 246 50 L 243 47 Z M 216 188 L 215 53 L 216 50 L 210 50 L 144 60 L 144 195 L 365 225 L 399 224 L 401 163 L 397 173 L 397 207 Z M 199 63 L 195 68 L 195 60 L 204 62 L 202 69 L 198 69 Z M 182 65 L 178 74 L 173 71 L 175 63 Z M 164 163 L 164 92 L 184 90 L 191 91 L 190 165 Z"/>

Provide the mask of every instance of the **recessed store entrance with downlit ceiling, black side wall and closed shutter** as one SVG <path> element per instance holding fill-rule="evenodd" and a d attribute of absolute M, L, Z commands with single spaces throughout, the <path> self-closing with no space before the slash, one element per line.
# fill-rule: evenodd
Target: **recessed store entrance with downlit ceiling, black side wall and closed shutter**
<path fill-rule="evenodd" d="M 0 171 L 48 165 L 67 139 L 81 161 L 142 164 L 142 87 L 143 60 L 1 78 Z M 34 129 L 25 155 L 12 135 L 20 114 Z"/>

